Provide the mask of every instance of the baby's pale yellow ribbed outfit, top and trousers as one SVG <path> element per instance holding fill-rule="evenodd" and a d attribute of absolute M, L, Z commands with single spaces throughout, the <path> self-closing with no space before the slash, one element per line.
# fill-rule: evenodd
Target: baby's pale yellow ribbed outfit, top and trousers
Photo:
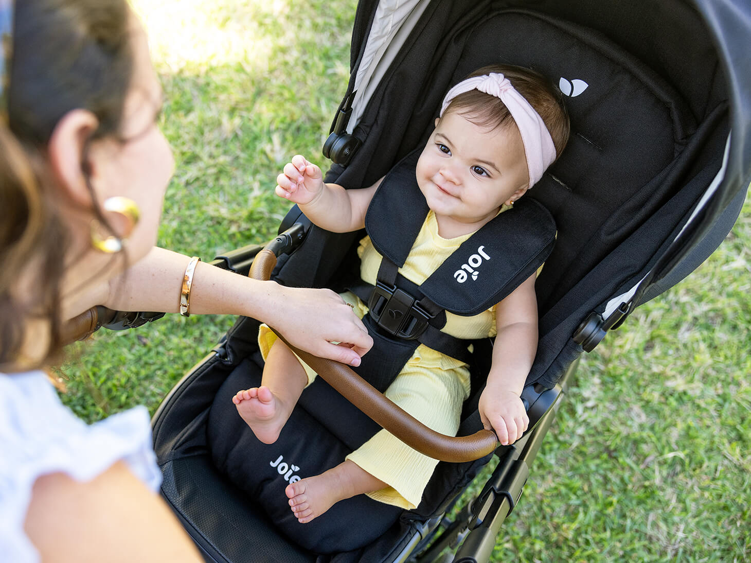
<path fill-rule="evenodd" d="M 414 283 L 423 283 L 469 236 L 442 238 L 438 234 L 436 216 L 431 210 L 405 265 L 399 270 L 400 274 Z M 357 253 L 361 260 L 360 276 L 375 285 L 381 255 L 368 237 L 360 241 Z M 367 313 L 366 305 L 356 295 L 348 292 L 342 298 L 353 305 L 354 312 L 360 318 Z M 460 338 L 495 336 L 495 307 L 475 316 L 457 316 L 447 312 L 442 331 Z M 276 335 L 262 326 L 258 342 L 264 359 L 274 341 Z M 301 363 L 309 382 L 312 382 L 315 373 L 304 362 Z M 453 436 L 459 428 L 462 404 L 469 397 L 469 368 L 464 362 L 421 344 L 384 395 L 424 425 Z M 438 463 L 385 430 L 375 434 L 347 459 L 388 483 L 385 489 L 369 493 L 370 498 L 407 510 L 420 504 L 425 486 Z"/>

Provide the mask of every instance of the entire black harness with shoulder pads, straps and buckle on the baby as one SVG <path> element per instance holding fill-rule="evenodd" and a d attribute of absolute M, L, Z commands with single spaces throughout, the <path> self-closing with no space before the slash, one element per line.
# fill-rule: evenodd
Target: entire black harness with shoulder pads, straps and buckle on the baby
<path fill-rule="evenodd" d="M 385 389 L 419 344 L 469 363 L 469 344 L 441 329 L 446 311 L 474 316 L 502 301 L 544 262 L 555 222 L 537 201 L 523 198 L 473 233 L 420 286 L 399 273 L 429 209 L 415 176 L 420 151 L 406 156 L 373 195 L 365 229 L 382 256 L 375 286 L 349 289 L 368 305 L 363 322 L 373 338 L 357 373 Z M 399 229 L 394 229 L 398 226 Z"/>

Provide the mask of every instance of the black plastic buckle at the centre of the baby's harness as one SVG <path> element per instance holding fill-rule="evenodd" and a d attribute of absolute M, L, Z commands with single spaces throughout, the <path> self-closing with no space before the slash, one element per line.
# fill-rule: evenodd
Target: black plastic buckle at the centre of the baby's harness
<path fill-rule="evenodd" d="M 370 316 L 389 334 L 411 341 L 427 328 L 433 319 L 409 293 L 377 282 L 368 303 Z"/>

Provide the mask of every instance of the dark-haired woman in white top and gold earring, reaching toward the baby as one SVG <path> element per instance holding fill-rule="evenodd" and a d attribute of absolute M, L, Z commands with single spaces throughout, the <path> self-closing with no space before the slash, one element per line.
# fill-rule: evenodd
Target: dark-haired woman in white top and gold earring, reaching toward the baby
<path fill-rule="evenodd" d="M 154 247 L 173 159 L 125 0 L 0 0 L 0 32 L 0 553 L 200 561 L 153 492 L 146 410 L 86 426 L 59 403 L 44 366 L 65 320 L 96 304 L 243 314 L 351 365 L 372 341 L 333 292 Z"/>

